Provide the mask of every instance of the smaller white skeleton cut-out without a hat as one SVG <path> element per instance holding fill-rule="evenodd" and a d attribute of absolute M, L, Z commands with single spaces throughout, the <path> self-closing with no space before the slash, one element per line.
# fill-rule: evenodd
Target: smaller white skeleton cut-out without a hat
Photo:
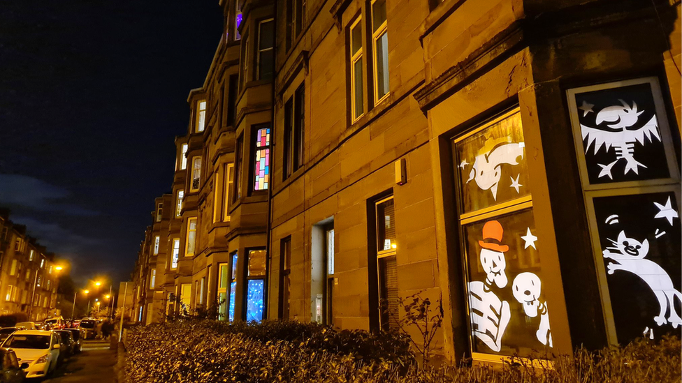
<path fill-rule="evenodd" d="M 512 283 L 514 298 L 523 305 L 525 315 L 532 318 L 540 315 L 540 325 L 535 331 L 537 340 L 543 345 L 553 347 L 552 332 L 549 328 L 549 310 L 547 309 L 547 302 L 539 300 L 541 291 L 540 278 L 534 273 L 520 273 Z"/>

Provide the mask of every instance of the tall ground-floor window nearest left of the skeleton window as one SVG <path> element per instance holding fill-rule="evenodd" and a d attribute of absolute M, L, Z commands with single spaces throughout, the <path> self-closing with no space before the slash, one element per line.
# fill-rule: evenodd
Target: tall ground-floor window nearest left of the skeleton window
<path fill-rule="evenodd" d="M 398 262 L 396 262 L 396 215 L 393 196 L 375 203 L 377 230 L 377 270 L 379 271 L 379 303 L 384 308 L 379 324 L 385 331 L 397 330 Z"/>

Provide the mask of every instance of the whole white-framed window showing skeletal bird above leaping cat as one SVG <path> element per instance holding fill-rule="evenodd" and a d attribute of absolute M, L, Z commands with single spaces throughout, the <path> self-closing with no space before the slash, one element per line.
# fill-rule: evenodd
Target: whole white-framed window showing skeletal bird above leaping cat
<path fill-rule="evenodd" d="M 569 89 L 567 98 L 609 343 L 679 336 L 679 136 L 658 78 Z"/>

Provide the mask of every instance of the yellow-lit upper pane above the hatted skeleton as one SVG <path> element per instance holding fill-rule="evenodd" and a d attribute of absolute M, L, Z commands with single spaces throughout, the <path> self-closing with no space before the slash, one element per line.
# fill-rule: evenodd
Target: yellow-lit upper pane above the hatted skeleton
<path fill-rule="evenodd" d="M 530 194 L 521 113 L 456 143 L 455 156 L 464 213 Z"/>

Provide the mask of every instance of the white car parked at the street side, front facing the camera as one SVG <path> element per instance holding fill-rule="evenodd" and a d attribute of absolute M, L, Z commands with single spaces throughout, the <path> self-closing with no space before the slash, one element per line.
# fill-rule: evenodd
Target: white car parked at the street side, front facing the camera
<path fill-rule="evenodd" d="M 14 350 L 26 377 L 45 377 L 57 368 L 59 338 L 52 331 L 15 331 L 0 347 Z"/>

